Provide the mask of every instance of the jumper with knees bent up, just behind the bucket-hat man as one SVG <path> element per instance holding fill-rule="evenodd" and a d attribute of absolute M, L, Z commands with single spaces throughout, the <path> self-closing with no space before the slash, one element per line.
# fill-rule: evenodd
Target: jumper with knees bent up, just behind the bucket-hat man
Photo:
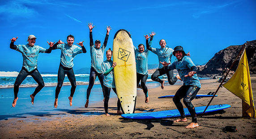
<path fill-rule="evenodd" d="M 151 39 L 153 39 L 154 35 L 153 33 L 150 34 Z M 159 62 L 167 62 L 167 63 L 171 63 L 171 57 L 172 57 L 172 52 L 173 49 L 169 48 L 168 46 L 166 46 L 166 41 L 164 39 L 159 41 L 159 45 L 161 46 L 161 48 L 152 48 L 152 47 L 148 47 L 147 49 L 149 49 L 150 51 L 152 51 L 153 53 L 158 55 L 158 61 Z M 190 56 L 189 52 L 188 54 L 186 54 L 187 56 Z M 174 85 L 175 82 L 179 79 L 179 75 L 177 75 L 176 77 L 174 77 L 173 75 L 173 70 L 169 70 L 168 72 L 166 72 L 162 66 L 161 63 L 159 63 L 158 69 L 152 74 L 151 79 L 153 81 L 159 82 L 161 83 L 161 88 L 164 88 L 164 80 L 161 80 L 160 78 L 158 78 L 159 76 L 166 74 L 167 75 L 167 79 L 170 85 Z"/>

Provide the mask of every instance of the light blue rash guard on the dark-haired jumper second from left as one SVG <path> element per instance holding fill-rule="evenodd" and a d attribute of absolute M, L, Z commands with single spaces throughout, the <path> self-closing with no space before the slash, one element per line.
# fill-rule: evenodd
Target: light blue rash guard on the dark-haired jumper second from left
<path fill-rule="evenodd" d="M 61 49 L 61 55 L 60 55 L 60 63 L 64 67 L 72 68 L 74 66 L 73 59 L 78 53 L 82 53 L 83 50 L 77 46 L 72 45 L 69 46 L 66 43 L 58 44 L 57 49 Z"/>

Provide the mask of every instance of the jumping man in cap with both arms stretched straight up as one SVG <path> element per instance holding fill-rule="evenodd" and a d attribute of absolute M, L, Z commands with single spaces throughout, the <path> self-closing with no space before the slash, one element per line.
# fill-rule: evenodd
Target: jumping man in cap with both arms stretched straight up
<path fill-rule="evenodd" d="M 86 91 L 85 108 L 88 107 L 90 93 L 91 93 L 91 90 L 94 86 L 94 81 L 96 79 L 96 76 L 98 76 L 99 82 L 100 82 L 101 87 L 102 87 L 103 97 L 105 99 L 104 88 L 103 88 L 104 75 L 102 74 L 101 64 L 103 62 L 103 54 L 104 54 L 105 48 L 107 46 L 108 35 L 109 35 L 110 30 L 111 30 L 110 26 L 107 26 L 107 34 L 106 34 L 106 37 L 105 37 L 105 41 L 104 41 L 102 47 L 100 48 L 100 46 L 101 46 L 100 41 L 96 40 L 95 43 L 93 41 L 93 28 L 94 28 L 93 24 L 89 23 L 88 27 L 90 29 L 91 70 L 90 70 L 90 77 L 89 77 L 89 86 L 88 86 L 87 91 Z M 103 101 L 104 101 L 104 99 L 103 99 Z"/>

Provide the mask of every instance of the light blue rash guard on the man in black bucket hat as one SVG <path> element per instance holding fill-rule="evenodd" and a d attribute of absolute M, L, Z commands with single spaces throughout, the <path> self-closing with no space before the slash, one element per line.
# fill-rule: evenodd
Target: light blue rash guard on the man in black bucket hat
<path fill-rule="evenodd" d="M 186 85 L 186 86 L 192 85 L 192 86 L 197 86 L 201 88 L 200 81 L 196 74 L 194 74 L 192 78 L 184 77 L 185 75 L 188 75 L 190 71 L 192 71 L 191 70 L 192 66 L 196 66 L 196 65 L 192 62 L 191 58 L 184 56 L 181 61 L 178 61 L 178 59 L 176 59 L 171 65 L 167 67 L 167 69 L 178 70 L 179 76 L 183 81 L 183 85 Z"/>

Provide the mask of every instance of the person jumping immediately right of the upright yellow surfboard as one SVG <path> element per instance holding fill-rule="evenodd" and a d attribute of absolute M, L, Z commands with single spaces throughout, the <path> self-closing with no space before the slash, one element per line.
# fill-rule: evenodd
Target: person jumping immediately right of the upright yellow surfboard
<path fill-rule="evenodd" d="M 152 33 L 154 36 L 155 33 Z M 147 48 L 150 47 L 152 38 L 149 41 L 149 36 L 144 36 L 146 38 Z M 149 45 L 149 46 L 148 46 Z M 134 46 L 133 46 L 134 47 Z M 149 50 L 145 49 L 143 44 L 138 45 L 138 49 L 134 47 L 135 60 L 136 60 L 136 71 L 137 71 L 137 86 L 141 88 L 145 94 L 145 103 L 149 102 L 149 94 L 148 88 L 146 86 L 147 78 L 148 78 L 148 57 Z M 141 84 L 139 84 L 141 81 Z"/>

